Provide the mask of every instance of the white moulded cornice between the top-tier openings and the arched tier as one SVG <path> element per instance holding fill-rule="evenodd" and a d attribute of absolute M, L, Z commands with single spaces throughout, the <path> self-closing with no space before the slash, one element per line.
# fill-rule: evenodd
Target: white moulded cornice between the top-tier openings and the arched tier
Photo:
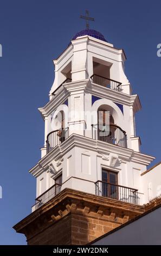
<path fill-rule="evenodd" d="M 137 94 L 128 95 L 99 86 L 98 84 L 92 83 L 90 78 L 65 83 L 63 84 L 63 87 L 64 88 L 61 90 L 61 92 L 57 93 L 44 107 L 38 108 L 43 118 L 52 113 L 54 109 L 60 106 L 70 95 L 82 92 L 90 93 L 94 96 L 111 100 L 123 105 L 132 106 L 134 113 L 141 109 L 140 100 Z"/>

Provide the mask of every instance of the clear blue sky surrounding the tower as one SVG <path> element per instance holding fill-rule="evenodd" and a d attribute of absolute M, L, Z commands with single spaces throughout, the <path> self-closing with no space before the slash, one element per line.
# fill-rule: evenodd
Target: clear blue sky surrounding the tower
<path fill-rule="evenodd" d="M 40 159 L 44 123 L 38 107 L 48 101 L 54 80 L 52 60 L 76 32 L 80 14 L 95 17 L 91 27 L 124 48 L 126 75 L 143 109 L 137 114 L 141 151 L 161 160 L 160 1 L 0 0 L 1 170 L 0 244 L 24 245 L 12 226 L 30 214 L 36 182 L 28 173 Z"/>

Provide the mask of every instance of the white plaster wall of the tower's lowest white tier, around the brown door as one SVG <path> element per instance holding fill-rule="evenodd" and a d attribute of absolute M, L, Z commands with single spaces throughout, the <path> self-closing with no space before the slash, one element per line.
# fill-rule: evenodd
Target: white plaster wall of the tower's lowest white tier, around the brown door
<path fill-rule="evenodd" d="M 114 164 L 112 157 L 116 159 Z M 94 182 L 102 180 L 104 168 L 118 173 L 118 185 L 138 190 L 139 204 L 146 202 L 143 183 L 148 185 L 148 182 L 142 181 L 140 175 L 146 170 L 146 165 L 132 159 L 123 160 L 123 157 L 109 152 L 108 146 L 104 153 L 100 153 L 97 149 L 83 148 L 81 144 L 80 147 L 75 146 L 66 151 L 63 156 L 57 156 L 56 160 L 48 161 L 48 166 L 52 168 L 44 168 L 43 173 L 37 176 L 37 197 L 54 184 L 54 179 L 61 172 L 62 189 L 67 187 L 95 194 Z M 155 176 L 153 180 L 156 182 L 159 179 Z M 150 179 L 151 182 L 153 180 Z"/>

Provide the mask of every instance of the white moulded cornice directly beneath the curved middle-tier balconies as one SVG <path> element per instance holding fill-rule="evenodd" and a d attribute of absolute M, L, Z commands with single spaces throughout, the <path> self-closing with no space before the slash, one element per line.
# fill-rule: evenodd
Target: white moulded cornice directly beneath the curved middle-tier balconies
<path fill-rule="evenodd" d="M 29 173 L 34 176 L 40 175 L 48 166 L 48 164 L 55 160 L 59 160 L 66 153 L 69 152 L 74 147 L 80 147 L 86 150 L 92 150 L 98 154 L 117 154 L 119 160 L 132 161 L 144 165 L 149 165 L 154 157 L 138 153 L 132 149 L 122 148 L 118 145 L 113 145 L 106 142 L 96 141 L 92 138 L 84 137 L 81 135 L 76 135 L 73 133 L 70 135 L 65 142 L 57 145 L 53 150 L 51 150 L 47 155 L 45 155 L 36 166 L 29 170 Z"/>

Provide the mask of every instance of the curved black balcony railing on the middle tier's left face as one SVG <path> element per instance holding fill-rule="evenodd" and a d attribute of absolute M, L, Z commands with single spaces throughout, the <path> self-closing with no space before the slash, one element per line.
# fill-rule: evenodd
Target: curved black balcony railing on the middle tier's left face
<path fill-rule="evenodd" d="M 68 127 L 62 130 L 55 130 L 47 136 L 47 153 L 61 144 L 68 138 Z"/>

